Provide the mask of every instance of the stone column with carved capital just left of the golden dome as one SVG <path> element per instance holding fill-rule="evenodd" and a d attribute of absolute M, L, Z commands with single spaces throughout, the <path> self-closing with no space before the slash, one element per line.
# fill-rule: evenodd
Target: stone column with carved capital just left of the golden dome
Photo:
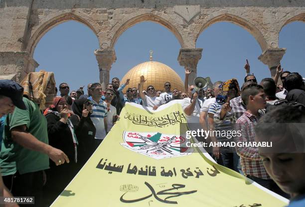
<path fill-rule="evenodd" d="M 109 75 L 112 63 L 116 62 L 117 57 L 114 49 L 98 49 L 94 51 L 96 60 L 99 64 L 100 70 L 100 83 L 102 89 L 106 89 L 106 85 L 109 84 Z"/>

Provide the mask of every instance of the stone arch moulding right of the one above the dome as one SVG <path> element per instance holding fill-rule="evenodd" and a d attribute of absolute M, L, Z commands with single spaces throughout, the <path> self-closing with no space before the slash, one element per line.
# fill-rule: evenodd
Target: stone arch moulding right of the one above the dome
<path fill-rule="evenodd" d="M 210 19 L 207 20 L 206 23 L 204 23 L 203 25 L 200 24 L 197 27 L 199 28 L 199 32 L 198 35 L 196 37 L 196 41 L 199 37 L 199 35 L 210 25 L 217 23 L 217 22 L 221 22 L 221 21 L 227 21 L 230 23 L 234 23 L 237 24 L 239 26 L 241 26 L 242 28 L 246 29 L 259 43 L 262 51 L 264 51 L 267 48 L 267 42 L 264 38 L 264 35 L 258 30 L 258 28 L 256 28 L 253 24 L 251 24 L 249 21 L 247 21 L 246 19 L 236 16 L 234 14 L 229 14 L 229 13 L 224 13 L 224 14 L 220 14 L 216 17 L 212 17 Z"/>

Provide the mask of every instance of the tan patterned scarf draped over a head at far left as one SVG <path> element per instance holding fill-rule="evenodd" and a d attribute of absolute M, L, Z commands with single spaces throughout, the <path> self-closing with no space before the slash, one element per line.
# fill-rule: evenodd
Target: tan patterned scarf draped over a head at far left
<path fill-rule="evenodd" d="M 51 87 L 51 92 L 46 93 L 48 83 Z M 23 95 L 27 96 L 29 100 L 40 104 L 40 109 L 44 109 L 45 104 L 52 104 L 55 94 L 54 73 L 43 70 L 31 72 L 25 76 L 20 85 L 24 88 Z"/>

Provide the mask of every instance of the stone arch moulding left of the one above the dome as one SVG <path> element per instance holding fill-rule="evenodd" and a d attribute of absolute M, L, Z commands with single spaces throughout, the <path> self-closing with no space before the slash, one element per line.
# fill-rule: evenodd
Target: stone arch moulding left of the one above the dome
<path fill-rule="evenodd" d="M 46 20 L 44 23 L 42 23 L 41 25 L 38 26 L 38 28 L 36 29 L 34 34 L 31 36 L 31 38 L 28 42 L 28 45 L 26 47 L 26 50 L 29 52 L 30 56 L 33 57 L 35 47 L 45 33 L 47 33 L 50 29 L 57 26 L 58 24 L 61 24 L 63 22 L 70 21 L 70 20 L 75 20 L 77 22 L 85 24 L 94 32 L 94 34 L 98 38 L 96 29 L 87 20 L 85 20 L 84 18 L 82 18 L 74 13 L 71 13 L 71 12 L 63 13 L 60 15 L 56 15 L 55 17 L 53 17 L 49 20 Z"/>

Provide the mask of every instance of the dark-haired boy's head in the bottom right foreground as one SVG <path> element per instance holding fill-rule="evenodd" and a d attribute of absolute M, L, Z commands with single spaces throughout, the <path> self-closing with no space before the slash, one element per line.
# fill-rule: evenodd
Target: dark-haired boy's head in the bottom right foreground
<path fill-rule="evenodd" d="M 290 194 L 289 207 L 305 206 L 305 111 L 294 106 L 277 106 L 262 117 L 256 141 L 272 141 L 272 147 L 259 147 L 270 177 Z"/>

